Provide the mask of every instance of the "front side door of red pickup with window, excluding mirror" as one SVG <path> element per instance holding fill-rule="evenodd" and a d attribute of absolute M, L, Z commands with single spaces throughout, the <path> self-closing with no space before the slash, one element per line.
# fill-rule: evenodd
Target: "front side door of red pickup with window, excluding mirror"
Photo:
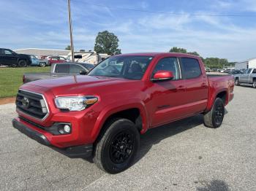
<path fill-rule="evenodd" d="M 174 78 L 168 81 L 151 82 L 148 91 L 151 92 L 151 127 L 162 125 L 184 116 L 182 105 L 185 101 L 184 80 L 177 58 L 162 58 L 158 61 L 151 77 L 157 71 L 172 71 Z"/>

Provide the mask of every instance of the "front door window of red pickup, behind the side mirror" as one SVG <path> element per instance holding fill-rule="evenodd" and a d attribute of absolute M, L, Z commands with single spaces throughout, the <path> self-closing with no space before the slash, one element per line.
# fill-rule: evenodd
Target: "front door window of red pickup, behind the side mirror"
<path fill-rule="evenodd" d="M 174 76 L 173 79 L 180 78 L 177 58 L 162 58 L 155 66 L 153 76 L 157 73 L 157 71 L 161 70 L 172 71 Z"/>

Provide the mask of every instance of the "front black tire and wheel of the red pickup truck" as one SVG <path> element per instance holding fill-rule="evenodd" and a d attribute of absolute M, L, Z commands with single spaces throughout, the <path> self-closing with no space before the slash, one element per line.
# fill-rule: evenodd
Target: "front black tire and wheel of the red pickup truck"
<path fill-rule="evenodd" d="M 105 126 L 94 150 L 94 163 L 109 174 L 132 165 L 140 147 L 140 134 L 130 120 L 117 118 Z"/>

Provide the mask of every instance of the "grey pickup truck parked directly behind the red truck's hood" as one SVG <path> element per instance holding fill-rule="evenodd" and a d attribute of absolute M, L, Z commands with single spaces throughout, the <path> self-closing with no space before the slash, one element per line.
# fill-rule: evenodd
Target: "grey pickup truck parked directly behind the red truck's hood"
<path fill-rule="evenodd" d="M 94 68 L 94 65 L 91 63 L 53 63 L 50 68 L 50 73 L 42 72 L 23 74 L 23 83 L 39 79 L 51 79 L 79 74 L 85 75 L 92 68 Z"/>

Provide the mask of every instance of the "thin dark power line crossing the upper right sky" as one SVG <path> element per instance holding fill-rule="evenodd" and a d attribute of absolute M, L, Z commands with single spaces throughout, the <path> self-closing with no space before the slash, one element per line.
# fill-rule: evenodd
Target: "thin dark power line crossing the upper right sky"
<path fill-rule="evenodd" d="M 79 0 L 75 0 L 79 1 Z M 105 7 L 108 9 L 123 9 L 127 11 L 133 11 L 133 12 L 148 12 L 148 13 L 154 13 L 154 14 L 169 14 L 169 15 L 184 15 L 184 16 L 208 16 L 208 17 L 256 17 L 256 15 L 238 15 L 238 14 L 201 14 L 201 13 L 181 13 L 181 12 L 158 12 L 158 11 L 150 11 L 150 10 L 144 10 L 144 9 L 133 9 L 133 8 L 126 8 L 126 7 L 110 7 L 104 4 L 92 4 L 88 1 L 80 1 L 86 4 L 94 5 L 97 7 Z"/>

